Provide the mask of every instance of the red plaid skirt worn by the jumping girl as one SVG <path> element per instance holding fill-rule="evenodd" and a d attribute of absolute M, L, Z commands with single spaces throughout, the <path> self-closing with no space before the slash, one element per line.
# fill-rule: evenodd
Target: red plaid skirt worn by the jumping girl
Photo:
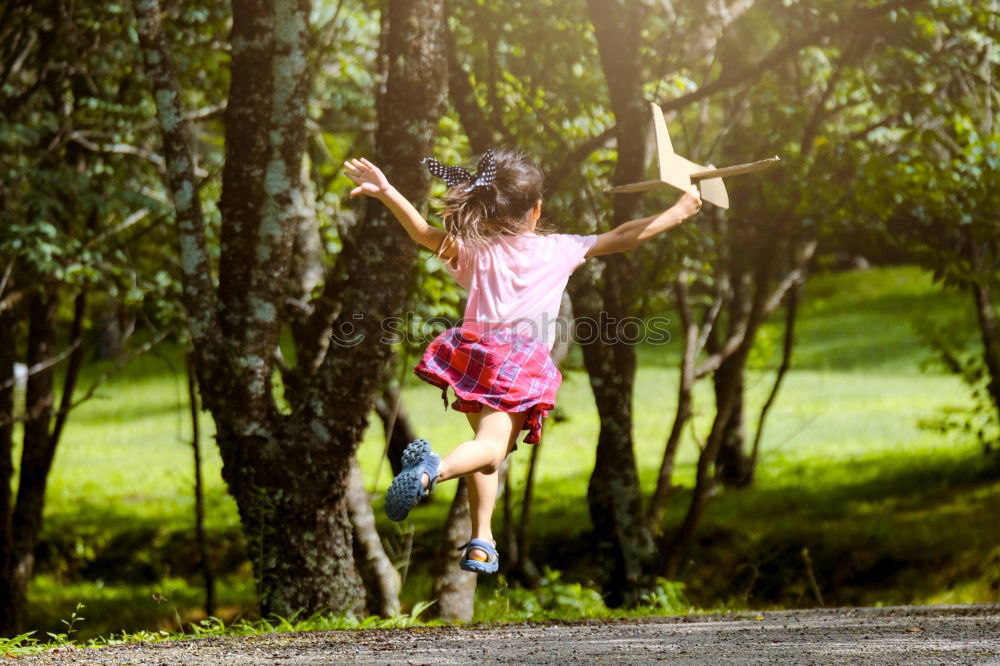
<path fill-rule="evenodd" d="M 555 407 L 562 375 L 545 343 L 510 331 L 466 324 L 449 328 L 427 346 L 413 368 L 418 377 L 441 389 L 445 409 L 448 387 L 452 408 L 476 413 L 487 405 L 502 412 L 528 412 L 522 430 L 526 444 L 542 437 L 542 419 Z"/>

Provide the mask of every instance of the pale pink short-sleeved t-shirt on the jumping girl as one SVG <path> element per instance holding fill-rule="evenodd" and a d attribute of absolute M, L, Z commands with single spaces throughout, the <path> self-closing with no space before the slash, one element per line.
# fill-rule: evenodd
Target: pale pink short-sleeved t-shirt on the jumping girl
<path fill-rule="evenodd" d="M 465 321 L 556 342 L 559 303 L 570 274 L 583 263 L 597 236 L 535 233 L 497 236 L 482 246 L 458 239 L 458 253 L 445 262 L 469 290 Z"/>

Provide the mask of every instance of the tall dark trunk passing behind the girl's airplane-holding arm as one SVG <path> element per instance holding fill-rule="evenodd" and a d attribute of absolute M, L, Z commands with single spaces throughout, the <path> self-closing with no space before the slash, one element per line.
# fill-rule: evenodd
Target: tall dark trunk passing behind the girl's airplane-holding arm
<path fill-rule="evenodd" d="M 648 156 L 646 133 L 648 107 L 642 95 L 641 44 L 645 5 L 621 0 L 588 0 L 597 36 L 611 106 L 615 113 L 618 163 L 614 182 L 641 180 Z M 612 225 L 634 217 L 641 196 L 615 198 Z M 609 606 L 632 605 L 650 583 L 648 565 L 653 541 L 642 513 L 639 474 L 632 444 L 632 389 L 635 381 L 635 349 L 614 337 L 615 324 L 627 317 L 623 302 L 630 283 L 629 259 L 621 254 L 605 258 L 604 284 L 596 291 L 592 274 L 583 267 L 571 286 L 573 309 L 578 317 L 607 322 L 602 331 L 605 344 L 583 345 L 584 362 L 597 402 L 601 428 L 597 461 L 587 488 L 595 541 L 605 572 Z M 600 293 L 601 298 L 593 295 Z"/>

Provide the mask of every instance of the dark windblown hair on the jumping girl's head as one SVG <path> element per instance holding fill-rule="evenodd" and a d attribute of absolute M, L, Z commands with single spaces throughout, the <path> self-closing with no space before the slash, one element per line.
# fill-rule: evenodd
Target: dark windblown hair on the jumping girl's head
<path fill-rule="evenodd" d="M 485 243 L 495 236 L 524 233 L 528 214 L 542 198 L 542 172 L 516 149 L 493 150 L 496 177 L 473 190 L 457 185 L 444 197 L 441 219 L 449 235 Z"/>

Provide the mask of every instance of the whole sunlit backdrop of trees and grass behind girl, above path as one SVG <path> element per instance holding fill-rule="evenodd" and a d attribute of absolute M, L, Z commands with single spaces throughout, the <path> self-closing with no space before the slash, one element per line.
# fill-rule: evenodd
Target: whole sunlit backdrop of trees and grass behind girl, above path
<path fill-rule="evenodd" d="M 997 10 L 4 3 L 0 630 L 997 601 Z M 460 485 L 380 495 L 464 437 L 409 373 L 462 294 L 340 165 L 436 221 L 421 158 L 517 146 L 601 232 L 675 196 L 604 194 L 650 101 L 683 155 L 782 162 L 574 274 L 603 342 L 558 349 L 477 589 Z"/>

